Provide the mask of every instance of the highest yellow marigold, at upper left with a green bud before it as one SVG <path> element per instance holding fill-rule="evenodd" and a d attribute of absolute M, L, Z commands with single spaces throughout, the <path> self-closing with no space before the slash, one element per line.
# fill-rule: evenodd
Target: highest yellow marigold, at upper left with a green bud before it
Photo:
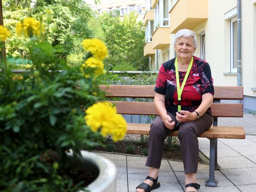
<path fill-rule="evenodd" d="M 29 37 L 37 34 L 40 36 L 41 32 L 44 31 L 44 25 L 40 21 L 35 20 L 34 18 L 27 17 L 24 20 L 17 23 L 16 33 L 22 35 L 23 32 Z"/>

